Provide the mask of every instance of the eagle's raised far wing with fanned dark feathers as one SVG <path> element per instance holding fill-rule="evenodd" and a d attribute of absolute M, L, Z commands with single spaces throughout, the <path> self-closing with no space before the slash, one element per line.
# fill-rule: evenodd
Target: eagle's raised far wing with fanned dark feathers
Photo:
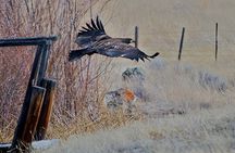
<path fill-rule="evenodd" d="M 82 28 L 75 40 L 81 48 L 88 48 L 98 40 L 110 38 L 98 16 L 96 21 L 91 18 L 90 24 L 86 23 L 86 27 L 83 26 Z"/>

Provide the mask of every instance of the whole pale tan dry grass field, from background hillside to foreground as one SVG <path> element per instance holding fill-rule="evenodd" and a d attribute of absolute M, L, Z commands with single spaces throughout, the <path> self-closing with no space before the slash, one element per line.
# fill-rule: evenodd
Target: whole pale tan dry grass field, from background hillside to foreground
<path fill-rule="evenodd" d="M 234 8 L 232 0 L 116 0 L 110 1 L 102 12 L 97 5 L 111 36 L 134 37 L 137 25 L 139 48 L 148 53 L 161 53 L 146 63 L 112 61 L 111 89 L 125 86 L 121 73 L 137 66 L 146 73 L 144 86 L 150 99 L 139 105 L 141 120 L 72 136 L 47 152 L 235 152 Z M 87 17 L 88 14 L 83 22 Z M 217 22 L 219 59 L 215 62 Z M 178 62 L 182 27 L 186 33 Z"/>

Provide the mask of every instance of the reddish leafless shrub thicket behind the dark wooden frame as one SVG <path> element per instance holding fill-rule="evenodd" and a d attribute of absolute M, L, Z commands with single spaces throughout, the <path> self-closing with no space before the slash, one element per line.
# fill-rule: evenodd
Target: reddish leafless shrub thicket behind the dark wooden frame
<path fill-rule="evenodd" d="M 92 4 L 98 0 L 92 0 Z M 125 116 L 109 119 L 102 110 L 107 75 L 112 69 L 107 58 L 84 58 L 69 63 L 79 21 L 89 0 L 10 0 L 0 3 L 0 38 L 58 35 L 52 46 L 47 77 L 58 81 L 48 137 L 65 137 L 125 123 Z M 0 141 L 10 141 L 21 112 L 34 59 L 34 47 L 0 49 Z M 108 122 L 108 123 L 107 123 Z M 79 123 L 79 124 L 78 124 Z M 94 124 L 95 123 L 95 124 Z M 120 124 L 119 124 L 120 123 Z M 67 131 L 67 132 L 64 132 Z"/>

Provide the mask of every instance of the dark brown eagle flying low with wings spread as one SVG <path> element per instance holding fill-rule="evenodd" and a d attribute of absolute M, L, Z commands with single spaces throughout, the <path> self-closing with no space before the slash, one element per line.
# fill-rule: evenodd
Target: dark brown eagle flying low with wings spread
<path fill-rule="evenodd" d="M 98 16 L 96 21 L 91 18 L 91 23 L 86 23 L 86 27 L 83 26 L 82 28 L 75 40 L 81 49 L 70 51 L 69 61 L 98 53 L 110 58 L 126 58 L 137 62 L 140 59 L 145 62 L 145 59 L 153 59 L 159 54 L 157 52 L 153 55 L 147 55 L 129 44 L 133 42 L 132 38 L 112 38 L 108 36 Z"/>

